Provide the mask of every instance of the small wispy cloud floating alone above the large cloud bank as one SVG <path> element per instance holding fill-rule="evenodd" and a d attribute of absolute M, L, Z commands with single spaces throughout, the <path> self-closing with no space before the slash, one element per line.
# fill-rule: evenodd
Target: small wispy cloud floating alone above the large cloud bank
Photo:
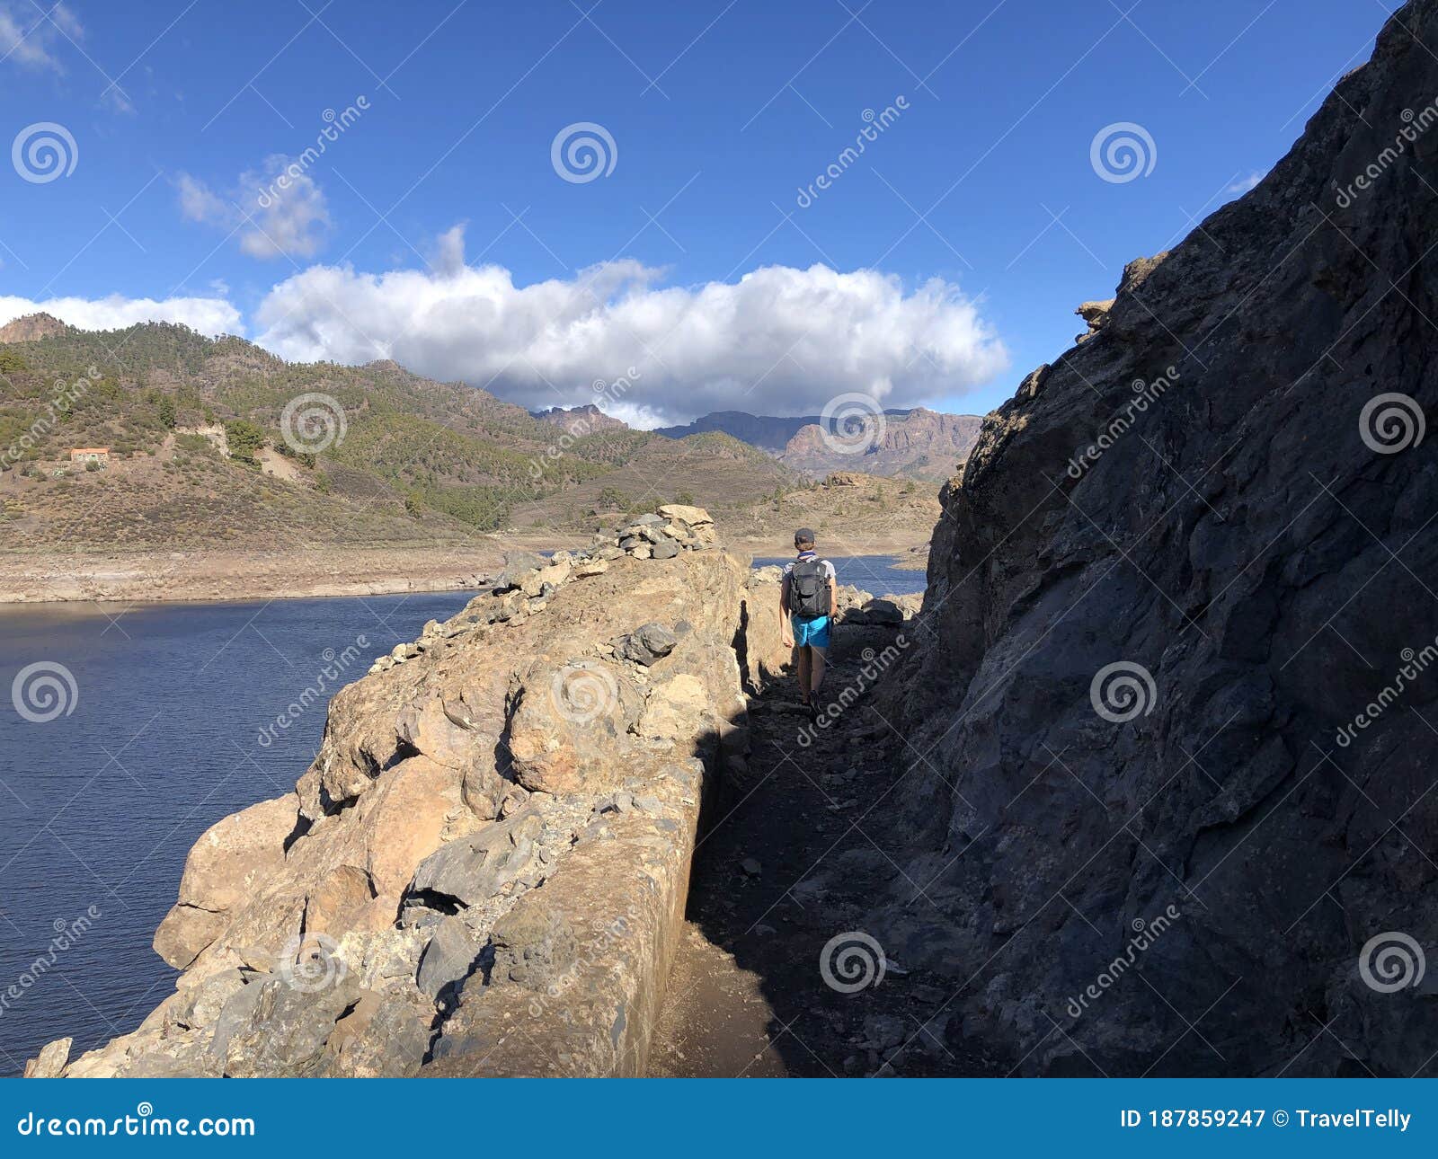
<path fill-rule="evenodd" d="M 283 154 L 265 158 L 259 170 L 240 174 L 229 193 L 181 173 L 180 211 L 236 234 L 252 257 L 312 257 L 325 243 L 329 207 L 324 190 Z"/>

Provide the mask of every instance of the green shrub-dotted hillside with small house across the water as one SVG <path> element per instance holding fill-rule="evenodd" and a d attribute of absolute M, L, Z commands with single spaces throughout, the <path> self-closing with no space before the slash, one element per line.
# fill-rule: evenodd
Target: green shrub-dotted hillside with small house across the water
<path fill-rule="evenodd" d="M 733 509 L 798 486 L 723 434 L 571 437 L 394 362 L 286 362 L 170 324 L 45 329 L 0 345 L 0 498 L 16 546 L 463 538 L 572 529 L 656 496 Z M 286 427 L 305 395 L 318 398 Z M 109 459 L 70 463 L 75 447 Z"/>

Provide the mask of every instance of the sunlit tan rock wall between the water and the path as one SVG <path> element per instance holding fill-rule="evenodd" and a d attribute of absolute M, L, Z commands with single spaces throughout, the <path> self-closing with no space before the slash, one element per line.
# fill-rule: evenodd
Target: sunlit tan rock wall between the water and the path
<path fill-rule="evenodd" d="M 748 745 L 748 561 L 713 541 L 669 506 L 513 555 L 377 660 L 295 791 L 196 843 L 155 935 L 175 994 L 65 1073 L 640 1073 L 703 795 Z"/>

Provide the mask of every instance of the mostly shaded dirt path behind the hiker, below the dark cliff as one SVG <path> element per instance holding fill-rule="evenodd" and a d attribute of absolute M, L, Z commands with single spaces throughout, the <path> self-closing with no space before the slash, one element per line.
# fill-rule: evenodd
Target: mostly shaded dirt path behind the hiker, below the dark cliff
<path fill-rule="evenodd" d="M 843 637 L 844 630 L 838 630 Z M 866 640 L 837 644 L 825 686 L 857 676 Z M 880 644 L 881 646 L 881 644 Z M 846 654 L 847 653 L 847 654 Z M 890 729 L 860 700 L 810 745 L 792 683 L 751 702 L 748 769 L 731 774 L 695 858 L 689 929 L 656 1025 L 656 1076 L 989 1074 L 959 1035 L 952 982 L 925 979 L 854 938 L 843 992 L 825 946 L 863 933 L 897 870 L 866 812 L 906 771 Z M 894 741 L 896 745 L 897 739 Z M 870 922 L 871 925 L 871 922 Z M 828 955 L 830 978 L 846 982 Z M 940 982 L 935 985 L 935 982 Z M 896 1053 L 897 1051 L 897 1053 Z"/>

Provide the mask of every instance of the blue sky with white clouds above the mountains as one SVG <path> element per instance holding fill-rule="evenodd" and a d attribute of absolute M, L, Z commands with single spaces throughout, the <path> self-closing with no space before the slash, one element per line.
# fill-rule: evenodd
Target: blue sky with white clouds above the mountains
<path fill-rule="evenodd" d="M 650 423 L 984 411 L 1267 173 L 1393 7 L 0 0 L 6 139 L 75 142 L 65 175 L 0 177 L 0 312 L 393 355 L 529 406 L 634 368 L 615 408 Z M 580 122 L 613 168 L 564 180 Z M 1152 139 L 1129 181 L 1091 162 L 1116 124 Z"/>

